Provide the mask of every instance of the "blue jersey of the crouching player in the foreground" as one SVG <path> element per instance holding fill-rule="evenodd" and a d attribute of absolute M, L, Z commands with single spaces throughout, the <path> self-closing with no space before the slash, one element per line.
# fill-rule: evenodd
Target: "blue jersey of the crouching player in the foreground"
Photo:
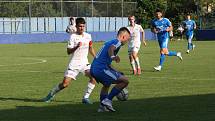
<path fill-rule="evenodd" d="M 104 69 L 109 67 L 109 65 L 112 62 L 112 59 L 108 54 L 108 50 L 111 45 L 116 47 L 116 50 L 114 51 L 114 55 L 117 55 L 117 53 L 119 52 L 119 49 L 122 46 L 122 43 L 117 39 L 105 42 L 102 48 L 97 53 L 96 57 L 94 58 L 93 63 L 91 64 L 91 68 Z"/>

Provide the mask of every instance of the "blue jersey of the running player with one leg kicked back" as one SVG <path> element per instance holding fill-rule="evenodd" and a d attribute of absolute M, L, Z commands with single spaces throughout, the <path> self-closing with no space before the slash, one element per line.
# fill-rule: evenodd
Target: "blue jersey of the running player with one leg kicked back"
<path fill-rule="evenodd" d="M 167 18 L 162 18 L 161 20 L 154 19 L 152 20 L 152 27 L 156 28 L 158 31 L 157 37 L 158 41 L 165 41 L 167 38 L 169 38 L 169 32 L 166 31 L 166 29 L 170 26 L 172 26 L 171 22 Z"/>

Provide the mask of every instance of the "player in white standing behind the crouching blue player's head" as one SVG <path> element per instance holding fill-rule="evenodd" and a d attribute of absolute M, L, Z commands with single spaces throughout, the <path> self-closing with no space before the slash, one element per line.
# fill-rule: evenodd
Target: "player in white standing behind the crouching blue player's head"
<path fill-rule="evenodd" d="M 131 40 L 128 42 L 129 60 L 133 70 L 133 74 L 140 75 L 141 67 L 140 67 L 140 62 L 138 57 L 138 51 L 140 50 L 140 45 L 141 45 L 140 33 L 142 33 L 142 42 L 146 46 L 145 33 L 141 25 L 135 24 L 135 17 L 133 15 L 129 16 L 128 20 L 129 20 L 129 25 L 127 26 L 127 28 L 131 33 Z"/>

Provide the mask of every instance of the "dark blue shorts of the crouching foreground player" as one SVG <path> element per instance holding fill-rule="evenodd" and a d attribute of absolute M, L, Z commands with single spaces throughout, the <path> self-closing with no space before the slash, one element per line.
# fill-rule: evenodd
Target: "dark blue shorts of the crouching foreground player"
<path fill-rule="evenodd" d="M 91 68 L 90 73 L 97 82 L 100 82 L 105 86 L 110 86 L 113 83 L 117 83 L 117 81 L 119 81 L 118 79 L 123 75 L 121 72 L 115 71 L 112 68 Z"/>

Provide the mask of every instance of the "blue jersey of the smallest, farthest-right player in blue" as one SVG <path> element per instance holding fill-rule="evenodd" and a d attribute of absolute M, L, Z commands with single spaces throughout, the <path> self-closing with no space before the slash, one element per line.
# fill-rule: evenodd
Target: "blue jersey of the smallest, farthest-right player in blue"
<path fill-rule="evenodd" d="M 190 36 L 193 34 L 194 27 L 196 26 L 196 23 L 194 20 L 185 20 L 185 21 L 183 21 L 183 26 L 186 30 L 186 35 Z"/>

